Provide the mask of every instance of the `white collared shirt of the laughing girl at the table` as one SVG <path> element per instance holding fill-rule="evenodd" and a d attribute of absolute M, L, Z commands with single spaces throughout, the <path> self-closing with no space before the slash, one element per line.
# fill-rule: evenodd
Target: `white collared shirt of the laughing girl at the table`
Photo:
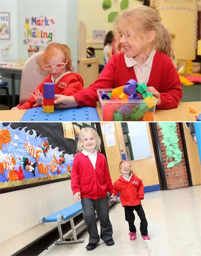
<path fill-rule="evenodd" d="M 152 63 L 153 63 L 153 57 L 154 57 L 155 53 L 156 53 L 156 50 L 152 50 L 149 57 L 147 58 L 146 62 L 144 64 L 142 64 L 141 66 L 133 58 L 127 58 L 126 55 L 124 54 L 126 66 L 128 68 L 134 67 L 135 75 L 136 75 L 138 83 L 147 84 L 147 82 L 149 80 L 151 67 L 152 67 Z"/>

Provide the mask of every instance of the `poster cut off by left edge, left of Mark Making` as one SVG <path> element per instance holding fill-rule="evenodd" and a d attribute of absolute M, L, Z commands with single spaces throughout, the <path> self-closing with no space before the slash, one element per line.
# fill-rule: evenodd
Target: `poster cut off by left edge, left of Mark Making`
<path fill-rule="evenodd" d="M 10 12 L 0 12 L 0 40 L 10 40 Z"/>

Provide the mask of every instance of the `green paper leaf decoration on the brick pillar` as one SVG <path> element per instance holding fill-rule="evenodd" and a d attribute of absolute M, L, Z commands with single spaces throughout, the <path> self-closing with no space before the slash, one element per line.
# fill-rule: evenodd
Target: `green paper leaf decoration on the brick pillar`
<path fill-rule="evenodd" d="M 179 138 L 176 133 L 176 123 L 158 123 L 162 129 L 163 140 L 161 141 L 166 146 L 166 156 L 168 158 L 175 158 L 174 161 L 167 165 L 167 168 L 171 168 L 182 161 L 182 151 L 179 149 Z"/>

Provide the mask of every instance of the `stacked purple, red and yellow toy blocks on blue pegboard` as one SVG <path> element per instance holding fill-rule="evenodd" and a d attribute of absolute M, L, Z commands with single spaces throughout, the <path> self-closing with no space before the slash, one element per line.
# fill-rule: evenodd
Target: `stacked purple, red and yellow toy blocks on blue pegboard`
<path fill-rule="evenodd" d="M 54 112 L 55 83 L 43 84 L 43 112 Z"/>

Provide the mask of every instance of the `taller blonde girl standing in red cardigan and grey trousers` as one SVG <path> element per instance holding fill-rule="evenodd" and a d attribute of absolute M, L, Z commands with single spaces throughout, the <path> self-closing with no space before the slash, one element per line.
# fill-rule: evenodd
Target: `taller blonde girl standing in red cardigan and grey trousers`
<path fill-rule="evenodd" d="M 92 128 L 82 128 L 73 160 L 71 188 L 74 200 L 81 200 L 84 220 L 89 233 L 87 250 L 96 248 L 100 238 L 106 245 L 114 245 L 109 219 L 107 192 L 113 194 L 106 158 L 100 151 L 100 137 Z M 100 220 L 100 237 L 97 231 L 95 210 Z"/>

